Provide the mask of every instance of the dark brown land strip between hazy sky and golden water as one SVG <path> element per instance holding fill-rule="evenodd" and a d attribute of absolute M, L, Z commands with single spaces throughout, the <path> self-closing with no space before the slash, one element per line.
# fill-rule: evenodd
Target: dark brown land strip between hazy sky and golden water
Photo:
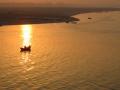
<path fill-rule="evenodd" d="M 74 22 L 72 16 L 89 12 L 120 11 L 120 8 L 1 7 L 0 25 Z"/>

